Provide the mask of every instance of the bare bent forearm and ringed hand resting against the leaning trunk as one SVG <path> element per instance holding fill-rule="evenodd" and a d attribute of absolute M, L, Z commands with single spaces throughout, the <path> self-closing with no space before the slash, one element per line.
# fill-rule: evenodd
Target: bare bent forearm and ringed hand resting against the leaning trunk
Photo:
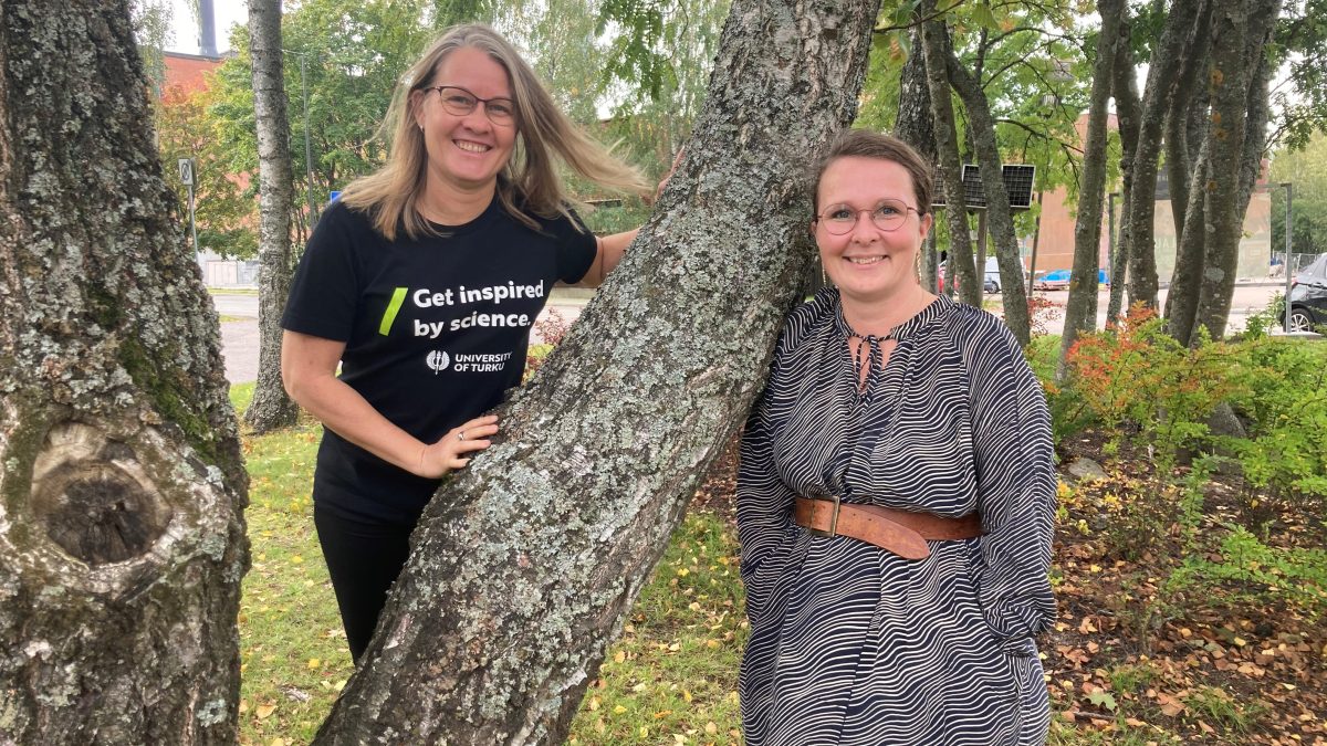
<path fill-rule="evenodd" d="M 345 342 L 287 331 L 281 337 L 281 381 L 287 393 L 322 425 L 373 455 L 418 477 L 439 478 L 470 463 L 498 431 L 495 415 L 476 417 L 435 443 L 423 443 L 373 409 L 336 377 Z M 456 435 L 466 434 L 466 439 Z"/>

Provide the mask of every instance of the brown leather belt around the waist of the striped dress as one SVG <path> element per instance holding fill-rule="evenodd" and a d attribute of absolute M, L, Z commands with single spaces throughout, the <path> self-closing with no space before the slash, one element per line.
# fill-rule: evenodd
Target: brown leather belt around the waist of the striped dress
<path fill-rule="evenodd" d="M 926 559 L 926 540 L 950 542 L 982 535 L 982 519 L 975 512 L 943 518 L 930 512 L 910 512 L 884 506 L 840 502 L 835 498 L 798 498 L 792 520 L 816 536 L 851 536 L 904 559 Z"/>

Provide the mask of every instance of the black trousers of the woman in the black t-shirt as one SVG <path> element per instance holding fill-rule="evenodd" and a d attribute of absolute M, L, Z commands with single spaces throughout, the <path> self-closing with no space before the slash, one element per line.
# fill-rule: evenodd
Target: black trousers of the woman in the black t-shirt
<path fill-rule="evenodd" d="M 410 556 L 414 523 L 374 523 L 344 518 L 313 506 L 322 559 L 341 609 L 341 625 L 356 664 L 378 625 L 378 615 Z"/>

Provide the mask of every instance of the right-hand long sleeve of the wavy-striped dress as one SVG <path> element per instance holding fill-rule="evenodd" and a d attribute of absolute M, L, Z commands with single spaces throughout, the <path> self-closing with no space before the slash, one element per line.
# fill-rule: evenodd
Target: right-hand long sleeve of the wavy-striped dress
<path fill-rule="evenodd" d="M 977 584 L 991 629 L 1007 642 L 1055 620 L 1047 573 L 1055 471 L 1046 396 L 1018 342 L 999 327 L 973 354 L 973 441 L 981 539 Z"/>

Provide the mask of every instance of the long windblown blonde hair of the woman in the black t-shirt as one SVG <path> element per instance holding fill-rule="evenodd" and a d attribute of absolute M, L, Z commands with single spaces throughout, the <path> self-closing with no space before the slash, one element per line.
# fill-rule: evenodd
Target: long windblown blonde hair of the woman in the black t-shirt
<path fill-rule="evenodd" d="M 394 240 L 401 228 L 413 239 L 437 234 L 418 210 L 429 154 L 423 133 L 415 125 L 411 94 L 426 89 L 447 54 L 466 46 L 492 57 L 511 78 L 516 147 L 498 178 L 498 199 L 507 212 L 535 230 L 539 223 L 529 212 L 543 218 L 569 216 L 572 199 L 557 178 L 555 155 L 602 187 L 650 192 L 636 169 L 610 155 L 563 114 L 511 42 L 487 25 L 463 24 L 447 29 L 397 84 L 381 130 L 387 141 L 387 162 L 341 192 L 341 202 L 368 212 L 387 240 Z"/>

